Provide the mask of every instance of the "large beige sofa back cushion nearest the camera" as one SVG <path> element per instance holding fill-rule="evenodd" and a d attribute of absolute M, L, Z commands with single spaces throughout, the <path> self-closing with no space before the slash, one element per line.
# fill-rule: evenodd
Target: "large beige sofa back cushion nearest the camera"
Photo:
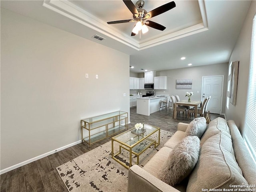
<path fill-rule="evenodd" d="M 247 184 L 234 157 L 231 138 L 223 132 L 202 144 L 198 162 L 188 181 L 188 192 L 224 188 L 234 190 L 230 185 Z"/>

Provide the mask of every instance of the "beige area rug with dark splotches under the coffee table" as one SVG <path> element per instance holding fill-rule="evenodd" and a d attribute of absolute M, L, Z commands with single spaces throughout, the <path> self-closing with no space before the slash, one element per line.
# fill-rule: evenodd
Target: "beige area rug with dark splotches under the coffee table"
<path fill-rule="evenodd" d="M 156 148 L 150 146 L 140 155 L 139 166 L 143 167 L 164 143 L 173 135 L 172 132 L 160 130 L 160 144 Z M 154 134 L 152 138 L 157 138 Z M 142 144 L 143 145 L 143 144 Z M 119 149 L 114 142 L 114 150 Z M 128 163 L 126 150 L 119 159 Z M 133 164 L 136 156 L 132 156 Z M 56 168 L 64 184 L 72 192 L 127 192 L 128 169 L 111 157 L 111 141 L 85 153 Z"/>

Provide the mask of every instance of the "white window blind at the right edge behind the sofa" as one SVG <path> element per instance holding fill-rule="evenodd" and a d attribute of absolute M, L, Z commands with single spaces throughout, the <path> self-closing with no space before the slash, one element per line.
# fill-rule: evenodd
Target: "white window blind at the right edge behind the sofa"
<path fill-rule="evenodd" d="M 251 62 L 249 70 L 244 139 L 256 160 L 256 15 L 252 24 Z"/>

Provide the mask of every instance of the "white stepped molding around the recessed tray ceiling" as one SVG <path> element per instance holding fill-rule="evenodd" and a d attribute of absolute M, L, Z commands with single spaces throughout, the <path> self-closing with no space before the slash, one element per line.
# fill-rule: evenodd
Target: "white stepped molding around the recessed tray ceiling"
<path fill-rule="evenodd" d="M 106 22 L 96 18 L 92 14 L 86 12 L 68 0 L 44 0 L 43 6 L 54 12 L 62 14 L 63 16 L 66 16 L 88 28 L 91 28 L 92 30 L 99 32 L 104 36 L 112 38 L 126 46 L 139 51 L 208 30 L 204 0 L 198 0 L 198 4 L 202 16 L 202 23 L 178 30 L 176 32 L 171 32 L 158 38 L 154 38 L 148 41 L 146 40 L 144 42 L 134 40 L 130 36 L 124 34 L 123 32 L 110 25 L 107 25 Z"/>

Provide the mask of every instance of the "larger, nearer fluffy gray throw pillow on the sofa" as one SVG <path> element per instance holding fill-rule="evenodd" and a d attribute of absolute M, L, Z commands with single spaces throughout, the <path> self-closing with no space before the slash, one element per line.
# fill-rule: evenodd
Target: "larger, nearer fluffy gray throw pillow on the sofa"
<path fill-rule="evenodd" d="M 200 139 L 197 136 L 185 137 L 170 153 L 158 173 L 158 178 L 170 186 L 182 182 L 196 166 L 199 150 Z"/>

